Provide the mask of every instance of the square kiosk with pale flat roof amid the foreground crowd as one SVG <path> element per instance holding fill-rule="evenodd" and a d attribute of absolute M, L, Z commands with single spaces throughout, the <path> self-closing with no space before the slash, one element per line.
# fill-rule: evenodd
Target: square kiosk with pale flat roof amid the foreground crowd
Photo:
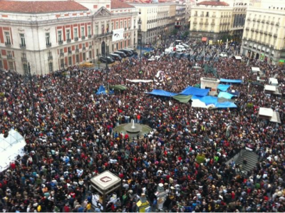
<path fill-rule="evenodd" d="M 120 191 L 121 180 L 119 177 L 115 176 L 112 172 L 105 171 L 100 175 L 93 177 L 91 180 L 91 185 L 93 187 L 93 202 L 94 206 L 98 206 L 100 203 L 101 212 L 106 212 L 106 206 L 108 202 L 116 202 L 117 197 L 110 197 L 108 200 L 108 195 L 112 195 L 113 192 Z M 114 198 L 114 199 L 113 199 Z M 103 210 L 103 211 L 102 211 Z"/>

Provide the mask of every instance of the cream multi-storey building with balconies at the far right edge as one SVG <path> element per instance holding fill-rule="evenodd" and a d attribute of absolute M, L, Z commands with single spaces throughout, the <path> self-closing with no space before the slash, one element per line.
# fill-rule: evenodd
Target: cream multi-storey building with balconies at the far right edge
<path fill-rule="evenodd" d="M 268 63 L 285 60 L 285 4 L 260 1 L 249 6 L 244 26 L 241 53 Z"/>

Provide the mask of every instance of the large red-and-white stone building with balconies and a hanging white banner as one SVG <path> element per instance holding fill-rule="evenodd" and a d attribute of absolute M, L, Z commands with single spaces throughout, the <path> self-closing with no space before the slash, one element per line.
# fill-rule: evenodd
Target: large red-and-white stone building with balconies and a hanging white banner
<path fill-rule="evenodd" d="M 87 3 L 86 3 L 87 2 Z M 46 74 L 134 48 L 138 13 L 118 0 L 1 1 L 0 68 Z M 123 28 L 120 41 L 113 30 Z"/>

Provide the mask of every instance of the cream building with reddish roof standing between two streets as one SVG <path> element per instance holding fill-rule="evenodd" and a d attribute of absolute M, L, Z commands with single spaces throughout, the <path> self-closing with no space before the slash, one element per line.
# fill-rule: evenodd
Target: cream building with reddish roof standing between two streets
<path fill-rule="evenodd" d="M 232 24 L 232 7 L 224 1 L 202 1 L 192 6 L 190 38 L 207 37 L 214 42 L 229 35 Z"/>

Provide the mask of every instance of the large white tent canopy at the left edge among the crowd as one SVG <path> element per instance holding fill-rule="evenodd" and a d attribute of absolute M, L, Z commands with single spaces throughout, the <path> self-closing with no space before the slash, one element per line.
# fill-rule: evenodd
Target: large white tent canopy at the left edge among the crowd
<path fill-rule="evenodd" d="M 26 141 L 15 130 L 10 130 L 8 137 L 0 134 L 0 172 L 6 170 L 18 155 L 24 155 Z"/>

